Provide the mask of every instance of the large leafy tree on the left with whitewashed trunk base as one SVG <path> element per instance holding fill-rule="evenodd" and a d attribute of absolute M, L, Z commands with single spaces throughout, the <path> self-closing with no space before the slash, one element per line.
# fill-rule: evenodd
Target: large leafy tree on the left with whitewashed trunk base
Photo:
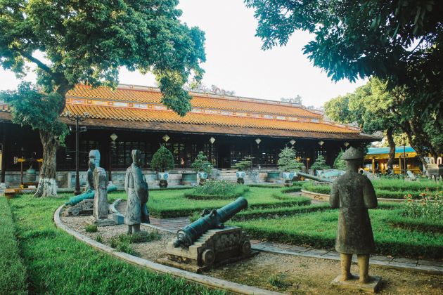
<path fill-rule="evenodd" d="M 0 65 L 22 77 L 28 71 L 26 62 L 34 64 L 41 92 L 24 84 L 3 93 L 13 117 L 41 112 L 58 122 L 54 114 L 63 112 L 70 89 L 79 83 L 115 87 L 120 67 L 153 72 L 162 103 L 186 114 L 191 97 L 183 86 L 190 77 L 201 79 L 205 37 L 197 27 L 179 21 L 177 4 L 178 0 L 0 1 Z M 47 108 L 33 109 L 33 98 Z M 56 150 L 63 128 L 47 129 L 47 121 L 37 119 L 24 122 L 39 129 L 44 146 L 36 196 L 56 195 Z"/>

